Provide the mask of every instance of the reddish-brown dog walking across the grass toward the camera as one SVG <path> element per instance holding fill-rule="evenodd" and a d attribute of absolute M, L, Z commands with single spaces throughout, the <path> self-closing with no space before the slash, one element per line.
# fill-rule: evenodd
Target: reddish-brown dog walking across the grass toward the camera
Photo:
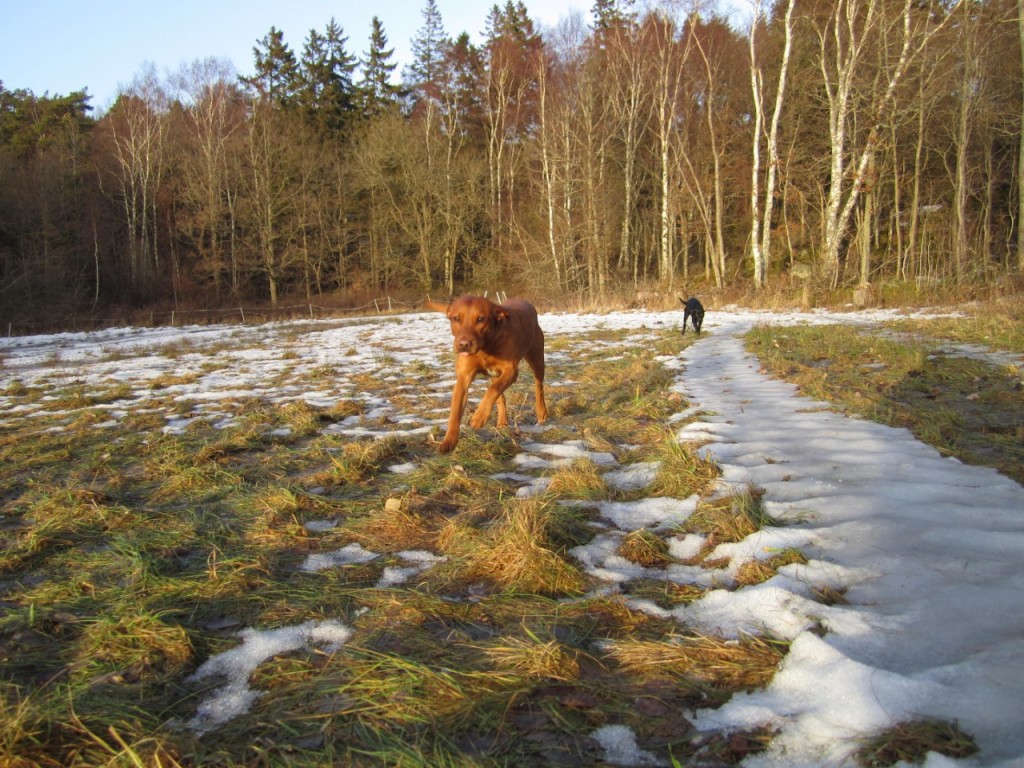
<path fill-rule="evenodd" d="M 537 423 L 543 424 L 548 417 L 544 403 L 544 332 L 537 322 L 532 304 L 522 299 L 495 304 L 483 296 L 460 296 L 451 304 L 427 301 L 426 305 L 447 315 L 455 337 L 452 414 L 438 452 L 446 454 L 459 442 L 459 425 L 466 410 L 469 385 L 479 374 L 490 377 L 490 386 L 469 425 L 479 429 L 486 424 L 497 401 L 498 426 L 508 426 L 505 390 L 519 377 L 519 360 L 523 358 L 534 370 Z"/>

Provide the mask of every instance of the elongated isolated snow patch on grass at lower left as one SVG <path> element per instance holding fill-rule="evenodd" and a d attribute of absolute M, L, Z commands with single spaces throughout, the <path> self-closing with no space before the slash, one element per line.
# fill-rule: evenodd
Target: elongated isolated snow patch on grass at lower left
<path fill-rule="evenodd" d="M 225 678 L 226 682 L 202 701 L 188 728 L 207 733 L 228 720 L 245 715 L 262 695 L 249 685 L 249 678 L 268 658 L 302 648 L 321 648 L 333 653 L 351 637 L 352 631 L 334 621 L 306 622 L 297 627 L 273 630 L 247 629 L 239 633 L 242 644 L 211 656 L 188 678 L 198 682 Z"/>

